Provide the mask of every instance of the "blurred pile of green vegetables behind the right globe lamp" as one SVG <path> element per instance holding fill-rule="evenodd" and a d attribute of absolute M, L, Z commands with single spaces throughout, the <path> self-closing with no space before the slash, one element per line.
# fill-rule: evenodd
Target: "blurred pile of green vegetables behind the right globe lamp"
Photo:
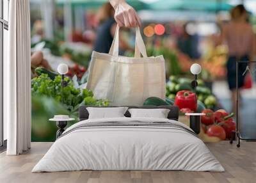
<path fill-rule="evenodd" d="M 187 90 L 193 92 L 191 87 L 192 79 L 186 77 L 170 76 L 166 83 L 166 97 L 175 99 L 178 92 Z M 212 95 L 211 90 L 205 86 L 204 81 L 198 79 L 198 86 L 196 87 L 197 99 L 200 104 L 204 104 L 206 108 L 214 109 L 216 107 L 216 97 Z M 201 103 L 202 102 L 202 103 Z"/>

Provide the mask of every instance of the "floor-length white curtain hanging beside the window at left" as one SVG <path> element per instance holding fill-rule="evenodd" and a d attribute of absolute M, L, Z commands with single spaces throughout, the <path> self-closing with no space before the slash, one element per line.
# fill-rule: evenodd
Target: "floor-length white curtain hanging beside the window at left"
<path fill-rule="evenodd" d="M 31 144 L 31 68 L 29 0 L 10 1 L 8 60 L 4 63 L 4 120 L 8 155 Z"/>

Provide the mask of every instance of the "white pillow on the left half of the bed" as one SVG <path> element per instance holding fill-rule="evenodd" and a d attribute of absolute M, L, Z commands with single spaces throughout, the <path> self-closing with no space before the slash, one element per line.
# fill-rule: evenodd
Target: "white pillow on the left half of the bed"
<path fill-rule="evenodd" d="M 125 117 L 124 114 L 128 107 L 86 107 L 89 113 L 89 119 L 95 118 L 120 118 Z"/>

